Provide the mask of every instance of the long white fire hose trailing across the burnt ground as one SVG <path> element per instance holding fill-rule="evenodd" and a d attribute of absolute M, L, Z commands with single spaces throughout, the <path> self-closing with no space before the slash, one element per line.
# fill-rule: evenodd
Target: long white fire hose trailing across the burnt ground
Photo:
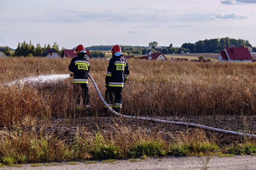
<path fill-rule="evenodd" d="M 138 117 L 138 116 L 128 116 L 128 115 L 123 115 L 123 114 L 117 113 L 112 108 L 110 108 L 108 103 L 104 100 L 104 98 L 102 97 L 102 95 L 101 95 L 101 93 L 99 91 L 99 88 L 97 87 L 96 83 L 93 80 L 93 77 L 91 77 L 90 74 L 88 74 L 88 76 L 92 80 L 93 85 L 96 88 L 96 91 L 98 92 L 98 94 L 99 94 L 100 98 L 102 99 L 102 102 L 104 103 L 104 105 L 107 106 L 109 111 L 111 111 L 112 113 L 116 114 L 117 116 L 122 116 L 122 117 L 129 118 L 129 119 L 149 120 L 149 121 L 169 123 L 169 124 L 175 124 L 175 125 L 186 125 L 186 126 L 189 125 L 189 126 L 201 127 L 203 129 L 213 130 L 213 131 L 217 131 L 217 132 L 221 132 L 221 133 L 230 133 L 230 134 L 233 134 L 233 135 L 242 135 L 242 136 L 256 137 L 256 135 L 252 135 L 252 134 L 249 134 L 249 133 L 241 133 L 241 132 L 234 132 L 234 131 L 230 131 L 230 130 L 223 130 L 223 129 L 218 129 L 218 128 L 214 128 L 214 127 L 199 125 L 199 124 L 195 124 L 195 123 L 176 122 L 176 121 L 169 121 L 169 120 L 162 120 L 162 119 L 153 119 L 153 118 Z"/>

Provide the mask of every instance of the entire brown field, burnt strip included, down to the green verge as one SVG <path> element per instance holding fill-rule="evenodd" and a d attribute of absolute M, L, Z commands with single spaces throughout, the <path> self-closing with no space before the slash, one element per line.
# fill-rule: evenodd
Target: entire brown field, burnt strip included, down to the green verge
<path fill-rule="evenodd" d="M 69 74 L 67 66 L 70 60 L 40 57 L 0 59 L 0 162 L 4 158 L 1 157 L 3 152 L 11 154 L 8 149 L 11 146 L 22 147 L 20 150 L 25 155 L 29 155 L 26 148 L 32 148 L 30 155 L 34 157 L 28 157 L 24 162 L 38 162 L 92 157 L 103 159 L 95 156 L 98 154 L 95 151 L 86 150 L 80 153 L 80 150 L 76 149 L 87 148 L 84 147 L 84 142 L 90 147 L 95 147 L 96 143 L 93 142 L 102 140 L 107 143 L 111 141 L 107 144 L 110 150 L 111 144 L 119 146 L 118 152 L 123 158 L 132 156 L 133 153 L 126 151 L 139 141 L 181 144 L 194 141 L 200 145 L 200 142 L 229 144 L 244 140 L 239 136 L 208 131 L 198 133 L 195 128 L 154 121 L 136 121 L 116 116 L 99 117 L 103 113 L 103 103 L 91 81 L 91 113 L 75 112 L 71 77 L 58 81 L 8 84 L 17 79 L 36 77 L 37 68 L 40 75 Z M 90 59 L 90 63 L 90 74 L 101 94 L 104 94 L 108 60 Z M 131 74 L 123 90 L 122 114 L 193 122 L 226 130 L 256 133 L 256 64 L 128 60 L 128 65 Z M 95 136 L 97 132 L 101 132 L 103 136 Z M 55 138 L 57 136 L 58 138 Z M 6 139 L 9 143 L 6 143 Z M 40 139 L 41 142 L 31 146 L 31 141 L 35 142 L 35 139 Z M 23 142 L 19 143 L 16 140 Z M 73 145 L 74 141 L 78 142 L 78 145 Z M 26 142 L 28 145 L 24 145 Z M 36 148 L 41 148 L 45 142 L 49 149 L 47 154 L 62 157 L 51 155 L 48 159 L 49 155 L 40 155 L 39 158 L 36 155 Z M 55 144 L 49 145 L 51 142 Z M 167 143 L 163 144 L 164 148 L 168 147 Z M 105 143 L 100 144 L 105 146 Z M 64 154 L 65 148 L 69 157 Z M 61 152 L 54 153 L 58 150 Z M 115 147 L 112 150 L 115 150 Z M 200 152 L 187 154 L 197 155 Z M 78 153 L 79 155 L 76 155 Z M 159 155 L 165 155 L 160 153 Z M 109 158 L 116 156 L 112 155 Z"/>

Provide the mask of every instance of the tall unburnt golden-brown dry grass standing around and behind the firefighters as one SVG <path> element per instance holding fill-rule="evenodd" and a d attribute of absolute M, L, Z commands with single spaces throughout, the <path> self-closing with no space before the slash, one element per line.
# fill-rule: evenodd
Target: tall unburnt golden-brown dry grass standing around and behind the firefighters
<path fill-rule="evenodd" d="M 70 59 L 0 59 L 0 127 L 74 113 L 72 78 L 30 85 L 6 85 L 39 74 L 69 74 Z M 90 74 L 104 95 L 108 60 L 90 59 Z M 256 115 L 256 64 L 128 60 L 131 71 L 123 91 L 122 113 L 133 116 Z M 89 81 L 92 114 L 103 103 Z M 24 123 L 23 123 L 24 124 Z"/>

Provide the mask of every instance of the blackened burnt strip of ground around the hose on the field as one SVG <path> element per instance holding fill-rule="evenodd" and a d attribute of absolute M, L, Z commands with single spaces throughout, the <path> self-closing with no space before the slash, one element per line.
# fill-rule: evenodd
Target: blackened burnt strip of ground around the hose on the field
<path fill-rule="evenodd" d="M 157 119 L 160 118 L 158 117 Z M 256 134 L 256 116 L 182 116 L 176 117 L 176 119 L 172 116 L 163 119 L 191 122 L 224 130 Z M 36 130 L 40 131 L 42 129 L 42 133 L 58 136 L 59 139 L 69 143 L 73 141 L 76 133 L 79 133 L 82 130 L 87 130 L 91 133 L 101 131 L 103 135 L 109 135 L 114 133 L 115 127 L 117 126 L 125 126 L 132 131 L 144 131 L 148 134 L 151 132 L 158 132 L 167 142 L 172 142 L 173 137 L 177 132 L 181 131 L 190 133 L 193 130 L 198 129 L 198 127 L 192 126 L 126 119 L 120 118 L 119 116 L 84 116 L 70 119 L 70 121 L 67 121 L 67 119 L 52 118 L 50 121 L 42 122 L 40 127 L 36 127 Z M 26 130 L 29 129 L 30 128 L 26 128 Z M 209 130 L 204 131 L 209 139 L 213 138 L 213 140 L 220 145 L 244 141 L 243 136 L 213 132 Z"/>

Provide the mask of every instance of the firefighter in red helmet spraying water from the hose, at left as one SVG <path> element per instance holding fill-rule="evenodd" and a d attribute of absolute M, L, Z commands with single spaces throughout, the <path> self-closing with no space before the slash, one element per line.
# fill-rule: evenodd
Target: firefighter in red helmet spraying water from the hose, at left
<path fill-rule="evenodd" d="M 88 93 L 88 73 L 90 71 L 90 62 L 87 59 L 87 52 L 83 45 L 78 45 L 74 51 L 77 57 L 74 57 L 68 69 L 73 72 L 73 88 L 76 96 L 76 109 L 80 109 L 80 96 L 83 99 L 83 108 L 90 107 L 90 96 Z"/>

